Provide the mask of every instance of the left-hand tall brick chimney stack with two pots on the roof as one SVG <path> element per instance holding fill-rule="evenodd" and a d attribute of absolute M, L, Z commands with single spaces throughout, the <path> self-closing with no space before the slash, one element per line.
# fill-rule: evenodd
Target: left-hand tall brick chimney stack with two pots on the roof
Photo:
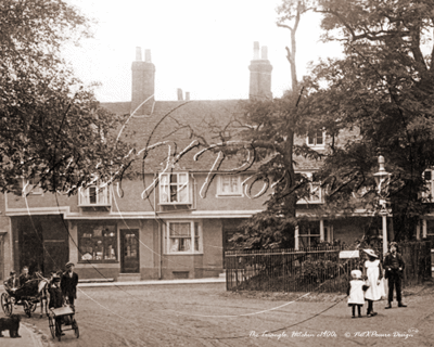
<path fill-rule="evenodd" d="M 144 62 L 142 61 L 142 50 L 136 48 L 136 61 L 131 64 L 132 88 L 131 88 L 131 111 L 135 112 L 141 103 L 149 99 L 136 115 L 144 115 L 151 110 L 154 102 L 155 92 L 155 66 L 151 62 L 151 50 L 144 51 Z"/>

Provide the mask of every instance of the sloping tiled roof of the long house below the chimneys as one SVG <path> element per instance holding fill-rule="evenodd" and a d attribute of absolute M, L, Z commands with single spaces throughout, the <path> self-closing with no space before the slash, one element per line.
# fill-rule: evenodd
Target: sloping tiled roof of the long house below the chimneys
<path fill-rule="evenodd" d="M 130 103 L 102 103 L 102 106 L 115 114 L 128 114 Z M 167 141 L 165 145 L 149 152 L 142 165 L 141 159 L 135 160 L 133 170 L 141 172 L 155 172 L 163 170 L 170 151 L 180 153 L 195 139 L 195 134 L 203 137 L 207 143 L 219 143 L 218 129 L 224 128 L 233 120 L 237 113 L 241 113 L 241 100 L 217 101 L 157 101 L 152 107 L 148 106 L 148 115 L 131 116 L 123 132 L 122 138 L 135 143 L 137 152 L 146 146 Z M 230 129 L 230 130 L 229 130 Z M 229 131 L 237 131 L 234 126 Z M 176 145 L 175 145 L 176 143 Z M 203 146 L 201 147 L 201 150 Z M 200 149 L 189 151 L 179 160 L 179 169 L 192 171 L 207 171 L 213 167 L 217 154 L 207 151 L 194 160 L 193 156 Z M 141 156 L 138 156 L 141 158 Z M 230 169 L 239 166 L 239 158 L 226 159 L 220 169 Z"/>

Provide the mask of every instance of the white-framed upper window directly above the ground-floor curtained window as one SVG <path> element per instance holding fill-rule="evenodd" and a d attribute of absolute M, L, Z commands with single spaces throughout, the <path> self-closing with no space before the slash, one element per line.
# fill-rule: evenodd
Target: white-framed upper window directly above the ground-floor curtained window
<path fill-rule="evenodd" d="M 190 204 L 188 172 L 159 174 L 159 204 Z"/>

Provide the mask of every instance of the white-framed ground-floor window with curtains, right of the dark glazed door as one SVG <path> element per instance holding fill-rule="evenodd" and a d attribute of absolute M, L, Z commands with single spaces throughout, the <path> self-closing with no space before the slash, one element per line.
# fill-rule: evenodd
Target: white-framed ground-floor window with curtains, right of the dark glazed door
<path fill-rule="evenodd" d="M 189 223 L 190 224 L 190 249 L 189 250 L 175 250 L 170 247 L 170 239 L 181 239 L 181 237 L 170 237 L 170 228 L 176 223 Z M 163 240 L 164 240 L 164 253 L 169 255 L 189 255 L 189 254 L 203 254 L 203 223 L 202 220 L 169 220 L 163 224 Z M 197 235 L 195 234 L 197 231 Z M 199 237 L 199 249 L 195 249 L 195 237 Z M 187 239 L 187 237 L 183 237 Z"/>

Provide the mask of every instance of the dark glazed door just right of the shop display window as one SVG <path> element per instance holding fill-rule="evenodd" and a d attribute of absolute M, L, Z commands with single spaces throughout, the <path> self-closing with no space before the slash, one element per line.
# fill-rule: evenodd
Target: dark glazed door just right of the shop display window
<path fill-rule="evenodd" d="M 120 230 L 120 272 L 140 272 L 139 259 L 139 230 Z"/>

